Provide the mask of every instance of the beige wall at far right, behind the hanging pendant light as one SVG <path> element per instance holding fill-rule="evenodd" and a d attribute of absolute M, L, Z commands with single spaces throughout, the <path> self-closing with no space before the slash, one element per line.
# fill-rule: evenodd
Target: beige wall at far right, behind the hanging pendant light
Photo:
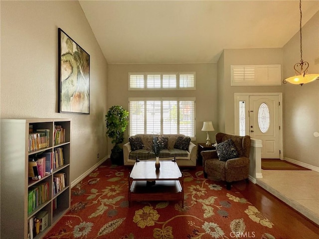
<path fill-rule="evenodd" d="M 309 62 L 308 73 L 319 73 L 319 12 L 302 28 L 303 60 Z M 295 75 L 300 62 L 300 33 L 283 47 L 284 77 Z M 317 64 L 315 64 L 317 59 Z M 302 87 L 284 86 L 284 156 L 319 167 L 319 80 Z"/>

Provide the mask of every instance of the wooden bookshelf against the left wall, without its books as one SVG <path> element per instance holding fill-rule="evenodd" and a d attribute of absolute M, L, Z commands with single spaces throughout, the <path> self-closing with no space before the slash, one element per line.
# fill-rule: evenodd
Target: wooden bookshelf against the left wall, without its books
<path fill-rule="evenodd" d="M 40 239 L 70 208 L 70 160 L 71 160 L 71 120 L 70 119 L 1 119 L 0 128 L 0 172 L 1 172 L 1 218 L 0 235 L 3 239 L 28 239 L 28 222 L 40 211 L 48 212 L 48 227 L 33 236 Z M 64 129 L 63 138 L 56 141 L 54 130 L 56 125 Z M 49 142 L 40 144 L 40 148 L 29 150 L 29 128 L 33 132 L 38 129 L 49 129 Z M 43 134 L 41 134 L 42 136 Z M 43 136 L 42 136 L 43 137 Z M 38 180 L 28 177 L 29 158 L 43 152 L 63 151 L 63 164 L 52 168 L 50 174 Z M 54 175 L 64 175 L 64 187 L 53 193 Z M 28 191 L 39 185 L 49 185 L 48 199 L 37 205 L 28 213 Z M 55 209 L 56 207 L 56 209 Z"/>

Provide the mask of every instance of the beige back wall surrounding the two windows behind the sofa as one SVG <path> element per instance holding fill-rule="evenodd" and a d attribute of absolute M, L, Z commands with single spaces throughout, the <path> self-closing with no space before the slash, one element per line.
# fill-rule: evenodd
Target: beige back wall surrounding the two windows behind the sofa
<path fill-rule="evenodd" d="M 196 72 L 196 91 L 128 91 L 129 72 Z M 121 105 L 128 110 L 131 97 L 195 97 L 196 142 L 206 142 L 206 132 L 201 131 L 203 121 L 213 121 L 213 139 L 218 130 L 217 122 L 217 68 L 216 64 L 139 64 L 109 65 L 108 108 Z M 143 93 L 143 95 L 142 95 Z M 125 132 L 128 141 L 128 130 Z M 212 140 L 213 141 L 213 140 Z M 109 143 L 109 152 L 113 146 Z"/>

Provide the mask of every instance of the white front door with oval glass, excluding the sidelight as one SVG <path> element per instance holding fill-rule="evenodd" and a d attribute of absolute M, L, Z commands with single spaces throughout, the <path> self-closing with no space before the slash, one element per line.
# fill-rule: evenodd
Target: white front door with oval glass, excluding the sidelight
<path fill-rule="evenodd" d="M 249 96 L 249 135 L 262 140 L 262 158 L 280 158 L 279 96 Z"/>

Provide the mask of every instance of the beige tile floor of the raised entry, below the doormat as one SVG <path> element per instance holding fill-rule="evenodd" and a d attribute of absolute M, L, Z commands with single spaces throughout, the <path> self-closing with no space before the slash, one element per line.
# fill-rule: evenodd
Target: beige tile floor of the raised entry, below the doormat
<path fill-rule="evenodd" d="M 262 170 L 257 184 L 319 225 L 319 172 Z"/>

